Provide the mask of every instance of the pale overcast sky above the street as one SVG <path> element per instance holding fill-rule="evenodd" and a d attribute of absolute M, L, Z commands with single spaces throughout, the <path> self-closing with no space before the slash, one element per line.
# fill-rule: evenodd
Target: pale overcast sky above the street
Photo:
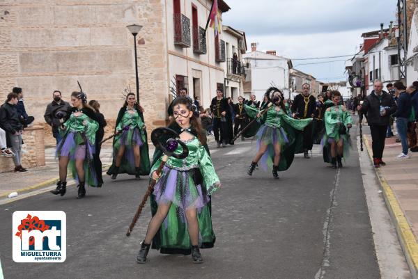
<path fill-rule="evenodd" d="M 362 33 L 396 23 L 396 0 L 226 0 L 225 25 L 245 31 L 247 46 L 275 50 L 287 58 L 312 58 L 355 54 Z M 356 48 L 357 47 L 357 48 Z M 346 80 L 346 58 L 293 60 L 293 67 L 320 81 Z M 300 65 L 334 61 L 316 65 Z"/>

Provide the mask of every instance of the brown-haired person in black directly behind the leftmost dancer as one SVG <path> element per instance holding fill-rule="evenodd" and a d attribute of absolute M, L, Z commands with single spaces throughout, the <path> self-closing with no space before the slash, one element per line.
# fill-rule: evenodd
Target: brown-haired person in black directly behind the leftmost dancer
<path fill-rule="evenodd" d="M 102 150 L 102 141 L 104 136 L 104 127 L 106 127 L 107 122 L 104 120 L 104 115 L 100 113 L 100 104 L 95 99 L 92 99 L 88 104 L 95 110 L 95 114 L 98 118 L 99 129 L 96 131 L 95 138 L 95 154 L 93 154 L 93 161 L 95 166 L 96 175 L 98 177 L 98 186 L 103 184 L 102 176 L 102 161 L 100 161 L 100 151 Z"/>

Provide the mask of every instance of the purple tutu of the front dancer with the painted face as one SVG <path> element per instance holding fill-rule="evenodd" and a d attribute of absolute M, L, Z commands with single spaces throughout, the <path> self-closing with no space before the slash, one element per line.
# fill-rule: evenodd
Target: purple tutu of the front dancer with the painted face
<path fill-rule="evenodd" d="M 158 204 L 172 202 L 183 210 L 190 208 L 201 209 L 210 200 L 203 194 L 202 186 L 195 185 L 188 171 L 174 170 L 164 166 L 162 176 L 155 184 L 155 201 Z"/>

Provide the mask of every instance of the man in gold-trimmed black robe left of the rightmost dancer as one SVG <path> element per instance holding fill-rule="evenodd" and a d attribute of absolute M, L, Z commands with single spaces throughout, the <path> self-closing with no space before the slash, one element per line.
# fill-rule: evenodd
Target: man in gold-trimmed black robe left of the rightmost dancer
<path fill-rule="evenodd" d="M 302 93 L 297 95 L 293 100 L 292 113 L 293 118 L 307 119 L 313 118 L 316 112 L 316 98 L 312 96 L 309 91 L 311 86 L 309 83 L 302 85 Z M 309 150 L 312 150 L 314 139 L 312 137 L 312 124 L 305 127 L 303 130 L 303 143 L 297 143 L 296 153 L 302 153 L 305 159 L 309 159 Z"/>

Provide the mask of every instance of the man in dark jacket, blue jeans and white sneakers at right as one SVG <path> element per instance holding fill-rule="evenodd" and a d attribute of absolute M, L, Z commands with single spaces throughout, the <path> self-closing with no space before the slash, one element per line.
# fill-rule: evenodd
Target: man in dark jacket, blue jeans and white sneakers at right
<path fill-rule="evenodd" d="M 410 118 L 412 108 L 411 96 L 406 92 L 406 87 L 401 81 L 396 81 L 394 83 L 394 88 L 398 95 L 398 108 L 393 116 L 396 117 L 396 129 L 398 129 L 398 134 L 402 143 L 402 152 L 396 157 L 396 159 L 409 159 L 407 131 L 408 120 Z"/>

